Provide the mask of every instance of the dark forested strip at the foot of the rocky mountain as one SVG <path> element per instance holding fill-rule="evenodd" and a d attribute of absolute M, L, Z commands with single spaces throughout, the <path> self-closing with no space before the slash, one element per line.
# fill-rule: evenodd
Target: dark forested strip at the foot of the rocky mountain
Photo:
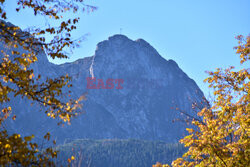
<path fill-rule="evenodd" d="M 169 163 L 180 157 L 186 149 L 181 144 L 135 139 L 81 139 L 57 147 L 58 165 L 108 167 L 151 167 L 156 161 Z"/>

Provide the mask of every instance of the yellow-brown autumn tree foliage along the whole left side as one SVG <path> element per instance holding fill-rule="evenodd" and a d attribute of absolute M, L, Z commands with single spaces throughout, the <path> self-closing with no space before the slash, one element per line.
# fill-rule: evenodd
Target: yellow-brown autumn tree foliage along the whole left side
<path fill-rule="evenodd" d="M 69 76 L 43 79 L 35 76 L 32 64 L 39 61 L 39 53 L 45 52 L 54 58 L 67 58 L 65 48 L 73 49 L 81 39 L 73 39 L 71 32 L 76 29 L 79 17 L 64 19 L 63 14 L 81 10 L 94 10 L 82 0 L 17 0 L 15 12 L 26 10 L 34 12 L 35 16 L 43 16 L 53 22 L 46 27 L 34 27 L 29 31 L 22 31 L 19 27 L 7 23 L 6 1 L 0 0 L 0 165 L 21 166 L 53 166 L 52 158 L 57 152 L 52 148 L 39 150 L 36 143 L 31 142 L 34 136 L 22 137 L 20 134 L 10 135 L 3 127 L 3 122 L 18 111 L 12 111 L 9 102 L 12 97 L 29 99 L 45 108 L 47 116 L 69 122 L 78 114 L 79 101 L 63 100 L 62 89 L 69 84 Z M 47 38 L 49 37 L 49 38 Z M 23 52 L 20 52 L 22 50 Z M 12 117 L 15 120 L 16 116 Z M 44 138 L 50 138 L 46 134 Z"/>

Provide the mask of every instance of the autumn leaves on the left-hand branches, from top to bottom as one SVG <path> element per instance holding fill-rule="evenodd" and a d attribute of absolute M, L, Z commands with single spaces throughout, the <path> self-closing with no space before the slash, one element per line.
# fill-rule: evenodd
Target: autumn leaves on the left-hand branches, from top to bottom
<path fill-rule="evenodd" d="M 69 3 L 74 6 L 72 2 Z M 20 8 L 25 7 L 33 9 L 35 15 L 45 14 L 54 19 L 62 18 L 62 16 L 57 13 L 59 10 L 65 12 L 70 9 L 67 5 L 62 4 L 52 6 L 51 9 L 48 9 L 45 2 L 37 4 L 34 1 L 20 1 L 16 11 L 18 12 Z M 74 7 L 75 10 L 78 9 L 77 6 Z M 67 9 L 64 11 L 64 8 Z M 4 12 L 2 14 L 3 17 L 5 17 L 6 13 Z M 0 36 L 3 38 L 7 37 L 2 40 L 5 42 L 4 45 L 6 48 L 1 50 L 2 58 L 0 59 L 0 106 L 5 106 L 2 104 L 12 100 L 11 97 L 13 94 L 15 97 L 27 98 L 31 101 L 38 102 L 41 106 L 44 105 L 48 108 L 46 114 L 52 118 L 59 117 L 61 120 L 69 122 L 73 116 L 78 114 L 75 110 L 80 107 L 78 104 L 79 100 L 70 100 L 70 102 L 67 103 L 68 105 L 65 104 L 66 102 L 61 101 L 62 89 L 70 81 L 68 76 L 44 81 L 42 79 L 39 80 L 41 78 L 40 75 L 38 77 L 34 76 L 31 69 L 32 63 L 38 60 L 37 53 L 40 52 L 40 49 L 44 50 L 44 52 L 52 58 L 67 58 L 66 52 L 64 52 L 63 49 L 76 45 L 76 42 L 72 41 L 70 37 L 70 31 L 76 27 L 71 24 L 72 20 L 71 22 L 70 20 L 65 22 L 62 27 L 49 27 L 46 30 L 40 30 L 38 28 L 31 34 L 21 33 L 22 31 L 19 27 L 7 26 L 7 24 L 4 24 L 4 21 L 0 23 L 2 27 Z M 73 24 L 77 23 L 78 20 L 79 18 L 74 19 Z M 54 34 L 54 38 L 48 40 L 46 34 Z M 37 35 L 41 35 L 39 39 L 34 38 Z M 20 53 L 20 50 L 24 51 Z M 12 55 L 8 55 L 7 53 L 11 53 Z M 38 80 L 39 82 L 36 82 Z M 5 84 L 7 82 L 8 84 Z M 5 85 L 11 86 L 8 87 Z M 69 87 L 71 87 L 71 85 Z M 9 117 L 10 112 L 10 107 L 1 108 L 0 125 Z M 16 119 L 15 115 L 11 116 L 13 120 Z M 14 160 L 20 162 L 19 166 L 30 166 L 31 162 L 37 166 L 51 166 L 53 161 L 50 160 L 51 157 L 56 156 L 55 153 L 53 153 L 52 149 L 48 149 L 43 153 L 40 152 L 40 154 L 37 149 L 37 144 L 31 144 L 30 142 L 33 137 L 34 136 L 26 136 L 21 138 L 20 135 L 8 136 L 5 131 L 0 131 L 0 152 L 6 149 L 4 147 L 6 145 L 11 148 L 7 147 L 9 150 L 4 150 L 11 153 L 11 155 L 0 156 L 0 166 L 12 166 L 11 163 L 14 162 Z M 45 138 L 49 139 L 50 135 L 45 135 Z M 13 154 L 13 152 L 16 154 Z M 23 163 L 24 160 L 27 162 Z"/>

